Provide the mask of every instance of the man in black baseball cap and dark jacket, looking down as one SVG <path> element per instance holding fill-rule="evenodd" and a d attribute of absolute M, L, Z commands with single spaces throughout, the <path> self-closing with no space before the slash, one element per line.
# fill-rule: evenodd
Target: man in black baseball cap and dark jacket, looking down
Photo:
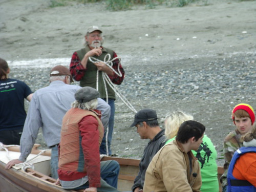
<path fill-rule="evenodd" d="M 134 122 L 131 127 L 137 127 L 137 133 L 141 139 L 150 139 L 147 146 L 144 149 L 143 156 L 141 158 L 139 167 L 140 172 L 134 180 L 132 191 L 143 191 L 143 185 L 145 180 L 145 173 L 148 164 L 151 159 L 164 145 L 164 130 L 161 130 L 158 121 L 156 111 L 152 109 L 143 109 L 135 114 Z"/>

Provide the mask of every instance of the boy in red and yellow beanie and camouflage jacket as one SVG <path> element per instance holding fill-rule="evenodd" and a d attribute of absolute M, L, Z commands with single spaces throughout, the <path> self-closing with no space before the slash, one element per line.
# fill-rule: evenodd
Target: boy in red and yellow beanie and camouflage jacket
<path fill-rule="evenodd" d="M 221 176 L 222 191 L 226 192 L 227 186 L 227 169 L 234 152 L 243 146 L 242 136 L 250 133 L 255 115 L 252 107 L 246 103 L 240 103 L 232 110 L 232 119 L 237 129 L 230 132 L 224 139 L 224 169 L 225 172 Z"/>

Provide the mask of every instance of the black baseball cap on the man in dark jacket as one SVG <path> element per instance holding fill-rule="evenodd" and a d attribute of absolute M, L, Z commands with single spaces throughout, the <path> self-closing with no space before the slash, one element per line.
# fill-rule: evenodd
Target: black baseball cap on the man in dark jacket
<path fill-rule="evenodd" d="M 152 121 L 152 120 L 157 120 L 156 111 L 152 110 L 152 109 L 143 109 L 143 110 L 140 110 L 138 113 L 135 114 L 134 122 L 130 127 L 135 126 L 139 122 Z"/>

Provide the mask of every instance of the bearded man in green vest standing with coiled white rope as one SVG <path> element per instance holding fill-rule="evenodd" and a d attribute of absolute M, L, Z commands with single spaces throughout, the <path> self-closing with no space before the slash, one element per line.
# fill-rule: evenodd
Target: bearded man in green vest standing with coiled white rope
<path fill-rule="evenodd" d="M 110 146 L 114 127 L 115 89 L 114 84 L 121 84 L 124 70 L 117 54 L 108 48 L 102 47 L 102 30 L 91 26 L 85 35 L 85 47 L 75 51 L 70 63 L 70 72 L 81 87 L 97 89 L 100 97 L 111 106 L 111 116 L 108 129 L 105 128 L 104 137 L 100 146 L 100 154 L 112 155 Z"/>

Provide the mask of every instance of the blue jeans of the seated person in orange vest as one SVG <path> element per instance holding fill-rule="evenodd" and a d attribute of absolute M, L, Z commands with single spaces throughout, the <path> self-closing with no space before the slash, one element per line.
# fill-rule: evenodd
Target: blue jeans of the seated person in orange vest
<path fill-rule="evenodd" d="M 120 192 L 117 190 L 117 180 L 119 174 L 119 164 L 117 161 L 101 161 L 100 162 L 100 187 L 97 188 L 98 192 Z M 85 189 L 89 187 L 89 182 L 74 188 L 74 190 Z"/>

